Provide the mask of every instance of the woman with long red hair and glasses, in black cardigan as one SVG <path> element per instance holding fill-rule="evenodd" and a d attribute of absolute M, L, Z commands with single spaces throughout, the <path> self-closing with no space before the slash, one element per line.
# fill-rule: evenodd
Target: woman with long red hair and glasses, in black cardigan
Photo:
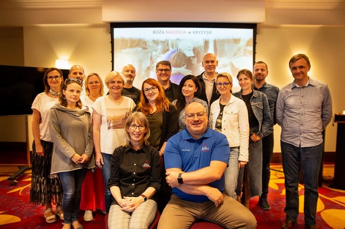
<path fill-rule="evenodd" d="M 150 123 L 148 142 L 158 150 L 160 156 L 164 157 L 168 139 L 178 130 L 177 112 L 175 106 L 165 96 L 163 87 L 156 80 L 149 78 L 142 82 L 140 102 L 135 110 L 147 117 Z M 158 194 L 160 199 L 158 209 L 161 212 L 171 196 L 171 188 L 165 177 L 163 170 L 162 189 Z"/>

